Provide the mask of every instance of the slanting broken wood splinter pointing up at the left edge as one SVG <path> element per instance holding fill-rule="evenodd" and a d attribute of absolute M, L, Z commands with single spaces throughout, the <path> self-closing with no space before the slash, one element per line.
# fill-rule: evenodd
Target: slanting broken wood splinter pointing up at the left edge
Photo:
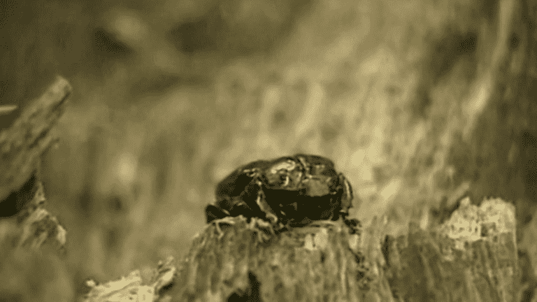
<path fill-rule="evenodd" d="M 57 140 L 51 134 L 71 94 L 69 82 L 57 76 L 45 93 L 22 108 L 10 128 L 0 132 L 0 201 L 34 174 L 41 154 Z"/>

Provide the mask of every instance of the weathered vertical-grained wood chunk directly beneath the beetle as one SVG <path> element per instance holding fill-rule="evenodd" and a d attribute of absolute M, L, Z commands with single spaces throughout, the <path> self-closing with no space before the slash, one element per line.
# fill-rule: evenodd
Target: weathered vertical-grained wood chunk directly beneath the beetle
<path fill-rule="evenodd" d="M 212 224 L 194 240 L 173 301 L 364 301 L 374 269 L 345 225 L 292 229 L 265 243 L 243 217 L 228 222 L 222 234 Z"/>

